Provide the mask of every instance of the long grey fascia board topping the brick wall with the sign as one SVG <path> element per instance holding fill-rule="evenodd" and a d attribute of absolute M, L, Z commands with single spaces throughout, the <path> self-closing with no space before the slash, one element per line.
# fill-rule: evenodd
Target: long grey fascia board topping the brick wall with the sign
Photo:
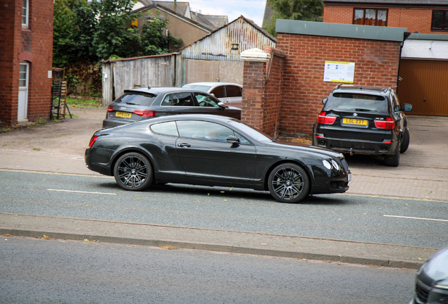
<path fill-rule="evenodd" d="M 277 19 L 275 32 L 403 42 L 406 28 Z"/>

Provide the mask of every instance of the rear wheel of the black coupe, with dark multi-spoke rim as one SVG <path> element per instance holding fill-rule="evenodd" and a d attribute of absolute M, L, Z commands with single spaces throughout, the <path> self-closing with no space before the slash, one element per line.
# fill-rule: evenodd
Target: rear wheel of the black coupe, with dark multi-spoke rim
<path fill-rule="evenodd" d="M 142 191 L 152 183 L 152 165 L 149 159 L 140 153 L 126 153 L 118 158 L 113 167 L 113 176 L 121 188 Z"/>

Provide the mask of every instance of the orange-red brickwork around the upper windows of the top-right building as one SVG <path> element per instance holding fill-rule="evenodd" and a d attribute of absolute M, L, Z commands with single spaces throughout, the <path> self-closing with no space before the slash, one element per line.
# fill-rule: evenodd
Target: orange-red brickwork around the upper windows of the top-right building
<path fill-rule="evenodd" d="M 356 6 L 356 8 L 381 8 L 375 6 Z M 448 32 L 431 31 L 433 8 L 387 8 L 387 27 L 403 27 L 408 32 L 420 34 L 448 34 Z M 441 8 L 441 9 L 446 9 Z M 323 22 L 353 23 L 353 6 L 328 6 L 324 4 Z"/>

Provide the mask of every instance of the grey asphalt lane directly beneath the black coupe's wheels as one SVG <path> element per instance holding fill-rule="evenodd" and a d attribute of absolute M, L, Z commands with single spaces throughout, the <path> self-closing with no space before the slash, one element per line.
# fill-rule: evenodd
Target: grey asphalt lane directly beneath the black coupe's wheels
<path fill-rule="evenodd" d="M 432 248 L 448 243 L 448 210 L 437 201 L 342 194 L 285 204 L 247 189 L 168 184 L 131 192 L 110 177 L 6 171 L 0 187 L 0 213 Z"/>

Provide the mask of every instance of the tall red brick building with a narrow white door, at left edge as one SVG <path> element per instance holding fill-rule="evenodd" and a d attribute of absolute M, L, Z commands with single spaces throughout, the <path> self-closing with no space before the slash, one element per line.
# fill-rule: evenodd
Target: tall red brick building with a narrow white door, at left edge
<path fill-rule="evenodd" d="M 0 125 L 48 120 L 52 0 L 0 0 Z"/>

